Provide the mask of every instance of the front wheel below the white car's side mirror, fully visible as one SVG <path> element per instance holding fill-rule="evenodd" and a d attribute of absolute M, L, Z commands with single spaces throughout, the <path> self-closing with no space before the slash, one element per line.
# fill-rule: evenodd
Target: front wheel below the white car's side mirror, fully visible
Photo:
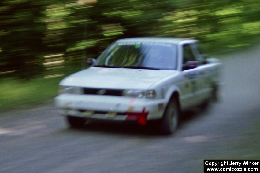
<path fill-rule="evenodd" d="M 180 116 L 180 107 L 176 98 L 172 98 L 163 114 L 160 132 L 163 135 L 170 135 L 176 131 Z"/>

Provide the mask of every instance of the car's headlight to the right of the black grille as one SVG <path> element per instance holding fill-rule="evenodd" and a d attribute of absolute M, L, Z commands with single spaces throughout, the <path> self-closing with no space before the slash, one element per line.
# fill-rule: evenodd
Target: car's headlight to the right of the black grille
<path fill-rule="evenodd" d="M 123 96 L 126 97 L 136 97 L 136 98 L 155 98 L 156 97 L 156 92 L 155 90 L 147 90 L 147 91 L 143 91 L 143 90 L 124 90 L 122 92 Z"/>

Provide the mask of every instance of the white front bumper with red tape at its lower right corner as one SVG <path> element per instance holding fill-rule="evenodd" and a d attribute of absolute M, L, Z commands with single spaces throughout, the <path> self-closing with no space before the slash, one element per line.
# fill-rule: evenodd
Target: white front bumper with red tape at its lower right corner
<path fill-rule="evenodd" d="M 167 105 L 163 99 L 75 94 L 61 94 L 55 97 L 55 104 L 63 115 L 114 121 L 145 114 L 147 120 L 160 119 Z"/>

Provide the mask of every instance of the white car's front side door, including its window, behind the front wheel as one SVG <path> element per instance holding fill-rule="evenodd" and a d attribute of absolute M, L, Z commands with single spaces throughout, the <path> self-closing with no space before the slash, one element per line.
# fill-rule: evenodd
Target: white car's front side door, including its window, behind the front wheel
<path fill-rule="evenodd" d="M 196 59 L 194 56 L 194 53 L 191 48 L 191 44 L 183 44 L 182 45 L 182 71 L 183 71 L 183 76 L 184 76 L 184 83 L 183 83 L 183 100 L 185 103 L 185 106 L 190 107 L 194 106 L 196 103 L 196 93 L 198 90 L 198 71 L 196 68 L 184 68 L 187 63 L 189 62 L 195 62 Z"/>

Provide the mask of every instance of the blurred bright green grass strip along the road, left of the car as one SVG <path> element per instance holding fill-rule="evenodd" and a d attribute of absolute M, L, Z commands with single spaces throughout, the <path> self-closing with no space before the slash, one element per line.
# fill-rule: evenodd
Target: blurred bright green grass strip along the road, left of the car
<path fill-rule="evenodd" d="M 50 102 L 51 98 L 58 94 L 58 83 L 62 78 L 36 78 L 30 81 L 2 79 L 0 81 L 0 111 Z"/>

